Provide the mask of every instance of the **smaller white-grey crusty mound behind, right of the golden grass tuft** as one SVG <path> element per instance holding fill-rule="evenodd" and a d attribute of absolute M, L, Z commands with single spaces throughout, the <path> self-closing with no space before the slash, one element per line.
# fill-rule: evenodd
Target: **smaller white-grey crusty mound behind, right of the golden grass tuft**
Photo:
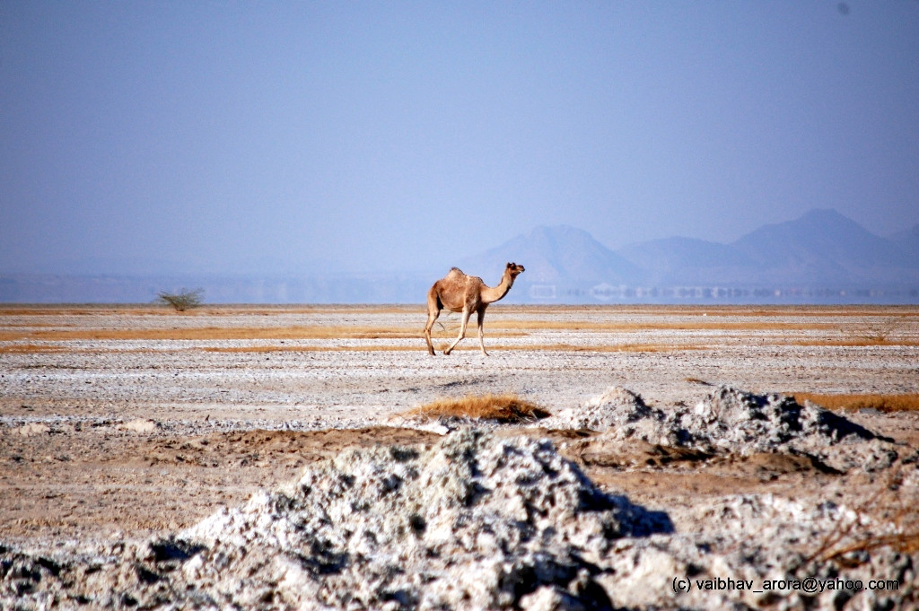
<path fill-rule="evenodd" d="M 669 413 L 616 387 L 540 425 L 600 431 L 602 440 L 610 443 L 641 440 L 742 456 L 789 452 L 817 458 L 840 471 L 886 469 L 897 458 L 891 439 L 841 415 L 811 403 L 800 405 L 793 397 L 757 395 L 728 386 L 712 391 L 695 407 Z"/>

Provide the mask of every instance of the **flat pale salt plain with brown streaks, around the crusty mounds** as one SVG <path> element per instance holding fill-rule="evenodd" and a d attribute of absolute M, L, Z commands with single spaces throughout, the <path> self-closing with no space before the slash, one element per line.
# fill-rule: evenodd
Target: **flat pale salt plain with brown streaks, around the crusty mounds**
<path fill-rule="evenodd" d="M 428 356 L 424 322 L 421 306 L 0 308 L 0 544 L 62 554 L 174 534 L 348 447 L 437 444 L 398 414 L 441 397 L 513 392 L 558 413 L 620 387 L 674 413 L 720 386 L 919 392 L 917 308 L 496 305 L 490 356 L 474 329 L 439 354 L 456 315 L 441 316 Z M 845 418 L 899 443 L 902 460 L 919 440 L 916 414 Z M 893 469 L 831 473 L 793 453 L 736 448 L 667 458 L 656 442 L 486 428 L 549 438 L 603 490 L 665 512 L 677 533 L 717 533 L 712 508 L 738 494 L 856 507 Z M 897 469 L 915 495 L 910 464 Z M 617 604 L 643 604 L 630 600 Z"/>

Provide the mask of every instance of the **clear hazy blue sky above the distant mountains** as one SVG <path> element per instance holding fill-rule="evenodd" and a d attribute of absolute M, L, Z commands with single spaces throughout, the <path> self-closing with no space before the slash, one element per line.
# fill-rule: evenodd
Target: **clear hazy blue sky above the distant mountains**
<path fill-rule="evenodd" d="M 0 2 L 0 271 L 438 268 L 811 208 L 919 223 L 919 1 Z"/>

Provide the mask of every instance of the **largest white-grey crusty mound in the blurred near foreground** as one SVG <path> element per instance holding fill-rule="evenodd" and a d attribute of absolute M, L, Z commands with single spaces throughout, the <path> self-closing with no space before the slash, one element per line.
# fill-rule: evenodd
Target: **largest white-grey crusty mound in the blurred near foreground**
<path fill-rule="evenodd" d="M 23 556 L 0 577 L 6 595 L 116 607 L 607 608 L 612 543 L 671 530 L 548 442 L 464 431 L 348 451 L 105 570 Z"/>

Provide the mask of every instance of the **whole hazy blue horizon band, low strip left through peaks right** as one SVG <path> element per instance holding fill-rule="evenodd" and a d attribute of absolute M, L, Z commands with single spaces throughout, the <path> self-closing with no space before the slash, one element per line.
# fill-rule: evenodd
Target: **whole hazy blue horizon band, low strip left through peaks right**
<path fill-rule="evenodd" d="M 494 285 L 508 261 L 527 271 L 505 302 L 919 303 L 919 225 L 885 238 L 833 209 L 764 225 L 732 243 L 670 237 L 612 250 L 582 229 L 536 227 L 457 266 Z M 210 302 L 421 303 L 446 271 L 0 274 L 0 302 L 144 302 L 159 290 L 193 286 Z"/>

